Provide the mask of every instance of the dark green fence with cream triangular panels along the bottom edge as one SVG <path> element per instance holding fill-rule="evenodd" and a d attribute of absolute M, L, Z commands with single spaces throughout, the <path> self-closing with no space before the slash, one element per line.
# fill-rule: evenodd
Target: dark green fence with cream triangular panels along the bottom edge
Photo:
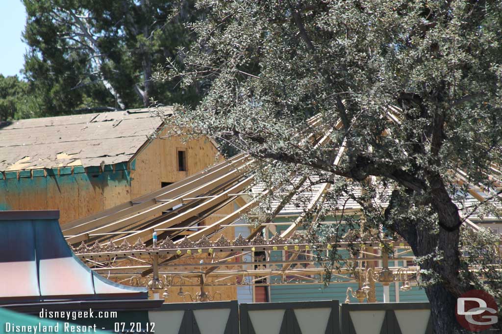
<path fill-rule="evenodd" d="M 218 301 L 164 304 L 149 319 L 162 334 L 432 334 L 430 313 L 426 302 Z"/>

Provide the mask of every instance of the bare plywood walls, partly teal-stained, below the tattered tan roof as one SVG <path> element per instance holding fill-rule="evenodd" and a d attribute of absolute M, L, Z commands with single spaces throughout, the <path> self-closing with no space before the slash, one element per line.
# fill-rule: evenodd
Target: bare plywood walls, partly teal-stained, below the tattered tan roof
<path fill-rule="evenodd" d="M 186 172 L 178 171 L 177 148 L 187 151 Z M 137 154 L 134 170 L 124 163 L 105 171 L 75 166 L 0 173 L 0 210 L 58 209 L 60 223 L 66 223 L 158 190 L 161 182 L 179 181 L 214 164 L 216 156 L 204 138 L 156 138 Z"/>

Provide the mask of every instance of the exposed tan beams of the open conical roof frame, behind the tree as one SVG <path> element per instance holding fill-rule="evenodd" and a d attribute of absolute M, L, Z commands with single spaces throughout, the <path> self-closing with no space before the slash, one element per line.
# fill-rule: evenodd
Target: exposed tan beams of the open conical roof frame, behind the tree
<path fill-rule="evenodd" d="M 387 117 L 391 122 L 400 123 L 399 109 L 390 108 L 387 111 Z M 312 133 L 308 138 L 302 141 L 303 145 L 329 145 L 330 134 L 332 131 L 337 131 L 341 128 L 341 123 L 338 122 L 335 129 L 326 129 L 321 125 L 319 117 L 310 119 L 309 125 L 312 127 Z M 390 133 L 390 132 L 389 132 Z M 340 163 L 345 143 L 338 148 L 338 153 L 334 158 L 333 165 Z M 245 213 L 260 205 L 257 198 L 244 203 L 239 208 L 233 210 L 230 214 L 224 215 L 216 222 L 201 226 L 197 231 L 190 231 L 190 234 L 185 238 L 179 238 L 180 231 L 187 231 L 194 224 L 202 221 L 210 216 L 221 207 L 230 204 L 237 198 L 248 193 L 250 187 L 254 184 L 253 166 L 255 161 L 246 154 L 236 155 L 224 162 L 218 163 L 204 171 L 194 174 L 180 182 L 171 184 L 158 191 L 137 198 L 131 202 L 124 203 L 114 208 L 105 210 L 101 213 L 90 217 L 82 218 L 74 222 L 63 225 L 63 233 L 66 236 L 68 243 L 77 246 L 82 242 L 82 245 L 77 249 L 78 256 L 84 260 L 92 262 L 95 266 L 94 270 L 107 270 L 111 276 L 125 277 L 132 274 L 149 275 L 152 272 L 152 264 L 148 261 L 153 255 L 162 256 L 162 261 L 159 263 L 161 268 L 160 273 L 165 275 L 173 274 L 173 272 L 162 271 L 162 268 L 171 268 L 176 265 L 182 267 L 180 261 L 187 261 L 195 258 L 197 253 L 211 253 L 213 257 L 209 263 L 196 263 L 200 270 L 188 272 L 180 272 L 185 276 L 207 276 L 225 277 L 225 275 L 239 274 L 242 270 L 218 270 L 221 266 L 239 266 L 242 263 L 235 263 L 233 260 L 237 254 L 242 252 L 250 252 L 261 250 L 270 252 L 275 249 L 286 249 L 284 247 L 294 247 L 295 251 L 305 250 L 306 244 L 294 244 L 288 240 L 295 231 L 301 226 L 305 220 L 306 214 L 300 214 L 294 222 L 286 228 L 286 230 L 277 235 L 278 240 L 284 243 L 273 244 L 264 240 L 260 240 L 260 232 L 268 225 L 273 224 L 273 219 L 277 216 L 285 205 L 299 191 L 306 181 L 305 176 L 291 175 L 292 187 L 289 193 L 281 203 L 274 208 L 269 216 L 264 219 L 259 226 L 247 238 L 240 240 L 221 241 L 220 244 L 211 244 L 207 238 L 215 233 L 229 227 Z M 498 181 L 502 172 L 499 172 L 497 166 L 493 166 L 493 180 Z M 468 175 L 462 171 L 457 171 L 458 184 L 462 185 L 467 182 Z M 317 192 L 312 196 L 306 210 L 310 211 L 319 203 L 322 204 L 326 192 L 329 191 L 330 185 L 321 184 Z M 267 190 L 264 190 L 264 193 Z M 468 185 L 468 192 L 479 202 L 487 200 L 490 196 L 498 196 L 498 194 L 488 194 L 482 185 L 473 187 Z M 180 206 L 181 205 L 181 206 Z M 356 209 L 353 210 L 357 212 Z M 476 229 L 477 226 L 472 223 L 468 217 L 465 218 L 466 223 Z M 158 248 L 152 248 L 151 239 L 152 233 L 159 233 L 159 240 L 165 240 Z M 258 241 L 257 241 L 258 240 Z M 113 242 L 112 242 L 113 241 Z M 277 241 L 277 240 L 276 240 Z M 135 243 L 135 245 L 132 245 Z M 228 244 L 225 244 L 228 242 Z M 376 242 L 376 241 L 373 241 Z M 92 243 L 94 246 L 88 247 Z M 397 249 L 399 247 L 407 248 L 404 241 L 393 242 L 389 240 Z M 146 244 L 146 245 L 145 245 Z M 187 247 L 188 245 L 188 247 Z M 217 247 L 216 247 L 217 245 Z M 334 247 L 342 248 L 343 243 L 334 245 Z M 373 245 L 372 245 L 373 246 Z M 374 245 L 376 246 L 376 244 Z M 120 247 L 122 249 L 120 250 Z M 129 247 L 129 248 L 128 248 Z M 298 249 L 297 249 L 298 247 Z M 303 248 L 302 248 L 303 247 Z M 126 249 L 128 248 L 128 249 Z M 92 249 L 95 251 L 93 252 Z M 222 258 L 215 257 L 215 254 L 223 255 Z M 291 268 L 298 261 L 296 256 L 289 260 L 278 261 L 278 264 L 283 265 L 281 270 L 250 270 L 255 276 L 270 277 L 271 275 L 293 275 L 296 277 L 304 277 L 310 274 L 322 274 L 324 269 L 302 270 Z M 110 258 L 137 258 L 141 259 L 140 265 L 122 265 L 123 262 L 115 262 L 114 266 L 110 265 Z M 374 256 L 371 261 L 381 259 L 379 256 Z M 351 261 L 368 261 L 367 257 L 361 259 L 351 259 Z M 296 262 L 295 262 L 296 261 Z M 269 261 L 270 262 L 270 261 Z M 311 261 L 310 261 L 311 262 Z M 249 263 L 247 263 L 248 265 Z M 269 264 L 272 264 L 271 262 Z M 102 266 L 101 268 L 99 266 Z M 195 267 L 195 264 L 193 265 Z M 129 268 L 129 269 L 128 269 Z M 347 268 L 342 268 L 348 270 Z M 120 272 L 121 271 L 121 272 Z M 249 270 L 248 270 L 249 271 Z M 348 272 L 348 271 L 347 271 Z M 336 272 L 333 271 L 334 274 Z M 346 276 L 346 279 L 351 279 Z M 313 280 L 316 281 L 316 280 Z M 316 281 L 317 282 L 317 281 Z M 282 282 L 284 283 L 284 281 Z M 209 284 L 209 283 L 208 283 Z"/>

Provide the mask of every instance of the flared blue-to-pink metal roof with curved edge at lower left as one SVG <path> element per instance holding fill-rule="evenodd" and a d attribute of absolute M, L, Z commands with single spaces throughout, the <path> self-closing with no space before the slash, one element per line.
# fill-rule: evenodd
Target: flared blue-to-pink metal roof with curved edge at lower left
<path fill-rule="evenodd" d="M 82 263 L 66 242 L 58 217 L 59 210 L 0 211 L 0 221 L 4 221 L 0 232 L 5 233 L 0 237 L 0 267 L 6 271 L 0 282 L 8 282 L 0 287 L 0 303 L 148 299 L 148 288 L 113 282 Z M 24 246 L 25 254 L 19 240 L 13 238 L 18 234 L 28 241 L 33 238 Z M 61 280 L 55 278 L 59 277 L 58 267 L 67 271 Z M 34 281 L 36 285 L 31 284 Z M 14 282 L 31 287 L 19 292 L 12 286 Z"/>

